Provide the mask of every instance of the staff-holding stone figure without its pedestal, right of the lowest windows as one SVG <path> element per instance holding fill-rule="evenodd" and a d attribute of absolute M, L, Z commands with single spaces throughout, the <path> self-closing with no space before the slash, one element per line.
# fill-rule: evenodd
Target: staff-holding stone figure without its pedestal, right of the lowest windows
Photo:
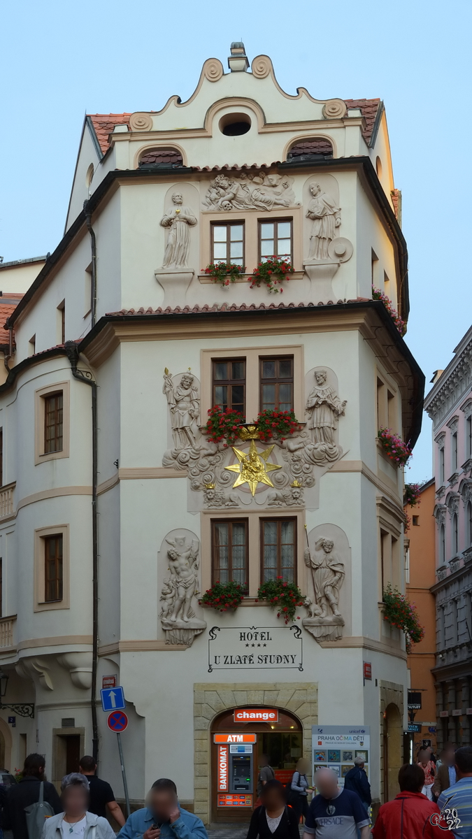
<path fill-rule="evenodd" d="M 344 563 L 336 553 L 331 539 L 317 539 L 313 555 L 305 551 L 305 565 L 312 569 L 315 602 L 313 612 L 323 618 L 329 614 L 341 617 L 338 610 L 339 588 L 344 580 Z"/>

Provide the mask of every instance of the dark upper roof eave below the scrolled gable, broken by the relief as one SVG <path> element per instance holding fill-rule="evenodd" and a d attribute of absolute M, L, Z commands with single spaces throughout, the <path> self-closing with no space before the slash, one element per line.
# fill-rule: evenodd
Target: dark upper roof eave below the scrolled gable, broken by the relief
<path fill-rule="evenodd" d="M 405 237 L 401 232 L 401 227 L 398 224 L 398 221 L 396 221 L 395 213 L 391 209 L 385 192 L 380 185 L 380 181 L 376 175 L 374 166 L 372 165 L 372 161 L 370 160 L 370 158 L 366 156 L 352 158 L 333 158 L 329 160 L 317 160 L 309 164 L 279 163 L 277 165 L 280 169 L 290 170 L 298 168 L 327 169 L 328 167 L 334 167 L 335 169 L 350 169 L 352 168 L 353 164 L 361 165 L 364 168 L 364 174 L 367 180 L 369 181 L 370 187 L 375 192 L 380 206 L 384 211 L 385 220 L 389 224 L 389 227 L 391 227 L 391 232 L 398 244 L 401 262 L 401 316 L 403 317 L 403 320 L 406 320 L 408 312 L 410 310 L 408 299 L 408 254 L 406 250 L 406 241 Z M 257 168 L 260 169 L 260 167 Z M 209 173 L 211 169 L 205 171 Z M 172 175 L 176 177 L 176 175 L 190 175 L 192 173 L 197 172 L 202 173 L 202 169 L 198 169 L 197 167 L 192 166 L 182 166 L 181 169 L 114 169 L 113 172 L 108 172 L 108 175 L 104 177 L 102 182 L 97 186 L 95 192 L 91 195 L 88 201 L 89 211 L 93 212 L 97 209 L 97 206 L 102 201 L 103 196 L 106 195 L 110 187 L 113 185 L 113 182 L 118 178 L 121 178 L 122 180 L 134 180 L 134 178 L 154 178 L 155 175 L 163 175 L 167 177 L 168 175 L 170 175 L 170 173 L 172 173 Z M 39 274 L 34 280 L 34 283 L 29 286 L 28 291 L 26 292 L 26 294 L 24 294 L 24 297 L 19 302 L 17 308 L 14 310 L 13 315 L 11 315 L 8 318 L 8 323 L 10 326 L 13 326 L 15 320 L 17 320 L 18 318 L 18 315 L 20 315 L 21 312 L 29 304 L 29 300 L 31 300 L 34 297 L 35 292 L 37 291 L 37 289 L 39 289 L 39 286 L 43 283 L 44 279 L 50 273 L 51 268 L 54 267 L 55 263 L 59 262 L 60 257 L 63 253 L 65 253 L 72 239 L 76 236 L 76 233 L 80 231 L 81 227 L 84 224 L 85 213 L 82 210 L 76 217 L 76 221 L 72 222 L 71 227 L 69 227 L 69 230 L 61 239 L 57 248 L 55 248 L 54 253 L 51 253 L 50 258 L 46 261 L 43 268 L 39 271 Z"/>

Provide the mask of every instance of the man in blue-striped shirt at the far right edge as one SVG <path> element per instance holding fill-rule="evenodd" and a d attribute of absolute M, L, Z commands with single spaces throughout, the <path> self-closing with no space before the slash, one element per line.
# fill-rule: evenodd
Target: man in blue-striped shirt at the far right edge
<path fill-rule="evenodd" d="M 456 783 L 439 795 L 438 807 L 443 821 L 455 839 L 472 839 L 472 747 L 463 746 L 455 753 Z M 459 823 L 454 819 L 457 812 Z M 450 820 L 450 821 L 449 821 Z M 454 822 L 454 823 L 453 823 Z"/>

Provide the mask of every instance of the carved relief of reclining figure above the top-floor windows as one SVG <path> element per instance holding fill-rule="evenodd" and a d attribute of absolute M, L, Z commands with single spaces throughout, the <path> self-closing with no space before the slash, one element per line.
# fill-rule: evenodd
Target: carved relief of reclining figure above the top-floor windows
<path fill-rule="evenodd" d="M 209 210 L 273 210 L 293 206 L 293 178 L 266 172 L 217 175 L 210 182 L 203 204 Z"/>

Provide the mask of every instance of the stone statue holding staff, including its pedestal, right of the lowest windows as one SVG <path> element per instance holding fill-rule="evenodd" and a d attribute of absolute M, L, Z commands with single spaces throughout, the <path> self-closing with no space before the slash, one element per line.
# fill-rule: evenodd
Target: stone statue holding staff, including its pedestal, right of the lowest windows
<path fill-rule="evenodd" d="M 307 597 L 308 618 L 303 626 L 317 641 L 343 637 L 344 618 L 339 612 L 339 589 L 344 581 L 344 562 L 334 548 L 333 539 L 317 539 L 313 553 L 305 550 L 305 565 L 312 572 L 314 599 Z"/>

